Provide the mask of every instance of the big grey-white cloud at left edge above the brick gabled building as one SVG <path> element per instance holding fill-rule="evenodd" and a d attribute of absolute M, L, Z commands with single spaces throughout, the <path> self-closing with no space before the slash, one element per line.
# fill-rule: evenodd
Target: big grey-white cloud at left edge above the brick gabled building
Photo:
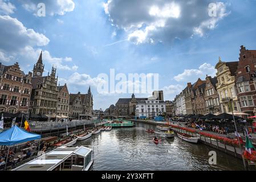
<path fill-rule="evenodd" d="M 23 64 L 34 64 L 41 51 L 38 47 L 47 46 L 50 42 L 45 35 L 25 27 L 18 19 L 8 15 L 0 15 L 0 40 L 0 61 L 17 61 L 19 57 L 19 60 L 23 60 Z M 64 62 L 72 62 L 71 57 L 53 57 L 48 51 L 43 51 L 43 61 L 57 66 L 60 70 L 78 69 L 76 65 L 64 64 Z"/>

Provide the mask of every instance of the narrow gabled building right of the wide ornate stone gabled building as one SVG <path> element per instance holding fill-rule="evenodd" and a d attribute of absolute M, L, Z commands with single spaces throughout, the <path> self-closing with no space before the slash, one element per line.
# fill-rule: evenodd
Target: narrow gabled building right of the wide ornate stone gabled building
<path fill-rule="evenodd" d="M 63 86 L 58 86 L 59 95 L 58 95 L 58 110 L 57 115 L 60 117 L 68 117 L 69 105 L 70 105 L 70 94 L 68 93 L 67 84 Z"/>

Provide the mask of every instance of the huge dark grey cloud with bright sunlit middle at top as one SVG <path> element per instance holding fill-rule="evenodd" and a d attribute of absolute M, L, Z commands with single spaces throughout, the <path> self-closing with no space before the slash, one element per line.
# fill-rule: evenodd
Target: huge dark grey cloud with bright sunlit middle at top
<path fill-rule="evenodd" d="M 216 2 L 217 14 L 209 16 L 210 3 L 210 0 L 109 0 L 103 7 L 113 26 L 123 29 L 131 42 L 142 44 L 204 36 L 229 14 L 227 4 Z"/>

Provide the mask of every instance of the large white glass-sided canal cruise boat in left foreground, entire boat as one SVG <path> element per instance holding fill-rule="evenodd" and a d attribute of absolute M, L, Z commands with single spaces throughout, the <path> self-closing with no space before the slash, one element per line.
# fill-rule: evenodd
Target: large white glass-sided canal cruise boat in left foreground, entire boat
<path fill-rule="evenodd" d="M 89 171 L 93 163 L 94 151 L 91 148 L 59 147 L 13 171 Z"/>

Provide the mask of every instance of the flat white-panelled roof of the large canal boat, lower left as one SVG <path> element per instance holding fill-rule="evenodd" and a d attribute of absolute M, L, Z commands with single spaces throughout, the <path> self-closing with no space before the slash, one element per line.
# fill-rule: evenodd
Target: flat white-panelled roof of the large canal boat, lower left
<path fill-rule="evenodd" d="M 68 159 L 71 155 L 80 155 L 86 157 L 92 151 L 91 148 L 80 147 L 59 147 L 55 150 L 41 155 L 30 162 L 23 164 L 13 171 L 51 171 Z"/>

